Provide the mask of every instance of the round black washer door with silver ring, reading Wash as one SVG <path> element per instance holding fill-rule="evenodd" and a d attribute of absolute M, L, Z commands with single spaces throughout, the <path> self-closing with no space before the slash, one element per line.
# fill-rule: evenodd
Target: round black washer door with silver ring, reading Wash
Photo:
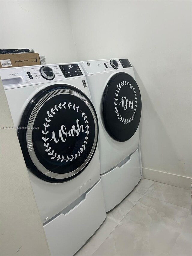
<path fill-rule="evenodd" d="M 72 86 L 57 84 L 31 100 L 18 136 L 28 168 L 48 182 L 64 182 L 91 161 L 98 121 L 86 95 Z"/>

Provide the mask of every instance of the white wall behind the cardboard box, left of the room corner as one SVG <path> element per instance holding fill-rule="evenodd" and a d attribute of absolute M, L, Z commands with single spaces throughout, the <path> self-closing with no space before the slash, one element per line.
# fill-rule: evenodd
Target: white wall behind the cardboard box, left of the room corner
<path fill-rule="evenodd" d="M 33 48 L 46 64 L 76 61 L 66 1 L 1 1 L 1 49 Z"/>

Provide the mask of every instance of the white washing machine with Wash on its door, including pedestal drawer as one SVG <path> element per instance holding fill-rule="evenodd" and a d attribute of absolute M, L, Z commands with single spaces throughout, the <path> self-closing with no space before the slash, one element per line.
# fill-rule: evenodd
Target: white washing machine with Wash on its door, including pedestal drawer
<path fill-rule="evenodd" d="M 0 75 L 51 254 L 73 255 L 106 218 L 85 74 L 68 63 Z"/>

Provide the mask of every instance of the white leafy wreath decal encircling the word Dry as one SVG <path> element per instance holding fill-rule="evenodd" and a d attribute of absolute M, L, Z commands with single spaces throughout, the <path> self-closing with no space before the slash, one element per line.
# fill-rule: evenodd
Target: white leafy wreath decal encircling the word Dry
<path fill-rule="evenodd" d="M 119 93 L 119 91 L 120 91 L 120 89 L 121 89 L 121 87 L 122 86 L 128 86 L 128 87 L 130 87 L 131 89 L 132 89 L 132 91 L 133 91 L 133 93 L 134 93 L 134 95 L 135 95 L 135 109 L 134 109 L 134 113 L 133 113 L 133 115 L 131 116 L 131 118 L 130 119 L 124 119 L 121 115 L 120 115 L 120 113 L 119 113 L 119 110 L 118 110 L 118 108 L 117 108 L 117 96 L 119 95 L 118 93 Z M 120 119 L 120 121 L 122 121 L 122 123 L 124 123 L 124 124 L 128 124 L 128 123 L 130 123 L 133 119 L 134 119 L 134 117 L 135 117 L 135 113 L 136 113 L 136 110 L 137 110 L 137 94 L 136 94 L 136 92 L 135 92 L 135 88 L 133 88 L 133 86 L 131 85 L 131 83 L 129 84 L 129 82 L 127 82 L 127 81 L 123 81 L 123 82 L 121 82 L 121 83 L 119 83 L 119 85 L 117 85 L 117 90 L 116 90 L 116 97 L 115 97 L 115 102 L 114 102 L 114 104 L 115 104 L 115 113 L 116 113 L 116 116 L 118 116 L 118 119 Z"/>

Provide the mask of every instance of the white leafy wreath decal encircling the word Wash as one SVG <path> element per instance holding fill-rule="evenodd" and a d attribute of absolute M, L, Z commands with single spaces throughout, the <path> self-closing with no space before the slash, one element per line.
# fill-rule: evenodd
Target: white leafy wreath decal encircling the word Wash
<path fill-rule="evenodd" d="M 78 110 L 79 107 L 76 107 L 75 104 L 74 104 L 74 105 L 70 105 L 70 104 L 71 104 L 71 102 L 69 102 L 69 104 L 66 104 L 66 102 L 64 102 L 62 106 L 64 107 L 64 109 L 66 109 L 66 107 L 68 107 L 69 109 L 72 107 L 73 110 L 76 110 L 77 112 L 79 111 L 79 110 Z M 48 123 L 48 122 L 51 122 L 51 119 L 50 119 L 50 118 L 52 118 L 53 115 L 56 113 L 55 110 L 58 111 L 58 109 L 61 109 L 61 108 L 62 108 L 62 107 L 61 107 L 61 103 L 60 103 L 58 106 L 55 105 L 54 109 L 53 109 L 53 107 L 52 107 L 51 113 L 49 113 L 49 111 L 47 111 L 48 118 L 45 118 L 46 123 L 43 124 L 43 125 L 45 126 L 45 130 L 42 131 L 42 133 L 44 134 L 44 137 L 42 137 L 42 140 L 45 141 L 45 143 L 44 143 L 44 146 L 46 147 L 45 151 L 46 151 L 46 152 L 49 152 L 48 155 L 52 155 L 51 159 L 57 158 L 57 161 L 58 161 L 58 160 L 61 160 L 61 162 L 62 162 L 63 160 L 65 160 L 65 162 L 67 163 L 69 160 L 72 161 L 73 158 L 76 159 L 77 156 L 79 157 L 79 156 L 81 155 L 81 153 L 83 152 L 83 149 L 85 149 L 85 144 L 87 144 L 87 139 L 88 139 L 88 134 L 89 134 L 89 131 L 88 131 L 89 126 L 88 126 L 87 116 L 85 115 L 84 112 L 82 112 L 82 111 L 80 110 L 81 113 L 82 113 L 82 117 L 83 117 L 84 120 L 85 120 L 85 124 L 86 124 L 85 128 L 87 128 L 87 130 L 85 131 L 85 133 L 86 133 L 87 135 L 86 135 L 86 137 L 85 137 L 85 140 L 83 141 L 84 144 L 81 146 L 80 151 L 78 151 L 77 154 L 75 154 L 75 155 L 70 155 L 70 156 L 67 155 L 67 158 L 64 158 L 63 155 L 61 155 L 61 156 L 60 156 L 59 154 L 57 155 L 57 153 L 54 153 L 54 150 L 51 151 L 51 147 L 49 146 L 49 143 L 47 143 L 47 140 L 49 140 L 49 138 L 46 138 L 46 134 L 48 134 L 49 131 L 46 131 L 46 128 L 50 126 L 50 125 L 47 124 L 47 123 Z"/>

